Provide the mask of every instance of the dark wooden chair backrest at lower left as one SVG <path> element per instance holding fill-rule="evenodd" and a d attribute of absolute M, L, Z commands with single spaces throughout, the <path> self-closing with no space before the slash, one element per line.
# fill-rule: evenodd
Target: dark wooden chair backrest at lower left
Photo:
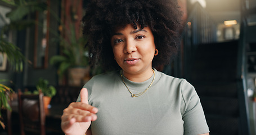
<path fill-rule="evenodd" d="M 19 91 L 19 116 L 21 135 L 25 133 L 46 134 L 46 116 L 43 107 L 43 93 L 24 95 Z"/>

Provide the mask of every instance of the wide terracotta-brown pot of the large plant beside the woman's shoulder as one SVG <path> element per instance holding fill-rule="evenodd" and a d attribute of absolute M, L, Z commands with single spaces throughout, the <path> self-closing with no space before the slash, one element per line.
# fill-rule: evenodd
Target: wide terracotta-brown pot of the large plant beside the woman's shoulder
<path fill-rule="evenodd" d="M 89 76 L 89 67 L 70 68 L 68 73 L 69 86 L 82 86 L 83 79 Z"/>

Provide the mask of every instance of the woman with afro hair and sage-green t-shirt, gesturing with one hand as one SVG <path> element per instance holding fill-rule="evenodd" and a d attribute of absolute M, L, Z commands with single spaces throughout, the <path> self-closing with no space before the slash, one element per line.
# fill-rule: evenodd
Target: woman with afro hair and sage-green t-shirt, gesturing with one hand
<path fill-rule="evenodd" d="M 62 115 L 66 134 L 209 134 L 195 89 L 152 68 L 177 52 L 177 1 L 92 1 L 83 17 L 96 75 Z"/>

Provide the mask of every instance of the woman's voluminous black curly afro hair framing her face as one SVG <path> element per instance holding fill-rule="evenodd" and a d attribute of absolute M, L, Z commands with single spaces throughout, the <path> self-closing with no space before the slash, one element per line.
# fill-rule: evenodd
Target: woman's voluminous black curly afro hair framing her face
<path fill-rule="evenodd" d="M 92 0 L 83 16 L 83 33 L 88 38 L 91 65 L 100 62 L 105 70 L 120 69 L 111 48 L 111 33 L 115 29 L 137 24 L 149 26 L 159 54 L 152 66 L 168 64 L 178 52 L 182 12 L 177 0 Z"/>

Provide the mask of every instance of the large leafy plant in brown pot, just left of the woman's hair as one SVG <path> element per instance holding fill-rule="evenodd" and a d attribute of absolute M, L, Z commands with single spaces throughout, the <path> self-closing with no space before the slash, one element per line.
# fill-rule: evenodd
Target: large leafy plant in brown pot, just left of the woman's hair
<path fill-rule="evenodd" d="M 50 59 L 50 64 L 58 67 L 60 78 L 68 76 L 69 86 L 81 86 L 83 79 L 89 78 L 88 51 L 84 47 L 86 43 L 87 38 L 78 35 L 75 26 L 71 24 L 64 36 L 60 37 L 61 55 Z"/>

